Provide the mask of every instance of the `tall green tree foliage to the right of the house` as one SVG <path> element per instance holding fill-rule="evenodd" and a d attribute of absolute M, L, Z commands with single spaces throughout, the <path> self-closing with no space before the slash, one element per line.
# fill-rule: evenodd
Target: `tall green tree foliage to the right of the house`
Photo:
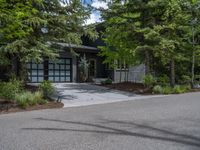
<path fill-rule="evenodd" d="M 116 59 L 144 63 L 146 74 L 155 73 L 163 86 L 188 83 L 183 75 L 191 75 L 193 83 L 200 58 L 199 6 L 198 0 L 113 0 L 103 10 L 105 62 L 114 67 Z"/>

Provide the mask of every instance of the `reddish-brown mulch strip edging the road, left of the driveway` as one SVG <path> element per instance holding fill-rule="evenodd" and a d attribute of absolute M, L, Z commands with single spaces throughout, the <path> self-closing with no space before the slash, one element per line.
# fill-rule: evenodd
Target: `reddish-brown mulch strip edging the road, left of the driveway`
<path fill-rule="evenodd" d="M 35 105 L 35 106 L 29 106 L 26 109 L 22 109 L 17 107 L 16 105 L 13 105 L 13 103 L 9 103 L 5 100 L 0 99 L 0 105 L 10 105 L 8 109 L 6 107 L 0 108 L 0 114 L 8 114 L 8 113 L 14 113 L 14 112 L 24 112 L 24 111 L 32 111 L 32 110 L 40 110 L 40 109 L 54 109 L 54 108 L 62 108 L 64 106 L 63 103 L 58 103 L 54 101 L 49 101 L 47 104 L 44 105 Z"/>

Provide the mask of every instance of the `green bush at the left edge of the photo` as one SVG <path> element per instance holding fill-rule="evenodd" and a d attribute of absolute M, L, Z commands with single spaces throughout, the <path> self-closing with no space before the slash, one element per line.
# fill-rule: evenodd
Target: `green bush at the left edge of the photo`
<path fill-rule="evenodd" d="M 9 82 L 1 83 L 0 96 L 7 100 L 14 100 L 15 95 L 22 91 L 22 82 L 19 80 L 11 80 Z"/>

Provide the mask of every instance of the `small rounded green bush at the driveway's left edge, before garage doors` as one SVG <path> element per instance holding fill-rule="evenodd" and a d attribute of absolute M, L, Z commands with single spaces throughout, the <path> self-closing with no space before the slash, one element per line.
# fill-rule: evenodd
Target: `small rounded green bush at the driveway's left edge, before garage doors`
<path fill-rule="evenodd" d="M 39 90 L 42 92 L 44 98 L 48 98 L 48 96 L 52 95 L 54 92 L 54 87 L 50 81 L 43 81 L 39 85 Z"/>

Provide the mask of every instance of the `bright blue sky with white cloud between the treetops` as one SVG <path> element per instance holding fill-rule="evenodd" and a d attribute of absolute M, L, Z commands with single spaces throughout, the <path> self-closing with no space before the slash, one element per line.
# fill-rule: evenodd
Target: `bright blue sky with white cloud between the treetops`
<path fill-rule="evenodd" d="M 86 3 L 91 4 L 94 8 L 108 8 L 107 3 L 100 0 L 86 0 Z M 93 24 L 101 22 L 101 14 L 99 11 L 94 10 L 90 15 L 90 19 L 86 21 L 86 24 Z"/>

